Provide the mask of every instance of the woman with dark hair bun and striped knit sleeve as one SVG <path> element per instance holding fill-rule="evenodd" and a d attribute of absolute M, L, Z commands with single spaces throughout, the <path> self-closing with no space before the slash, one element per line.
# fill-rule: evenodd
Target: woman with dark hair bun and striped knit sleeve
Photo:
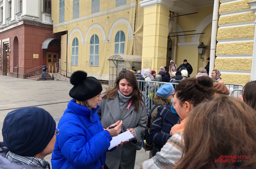
<path fill-rule="evenodd" d="M 185 123 L 188 120 L 189 113 L 200 103 L 212 99 L 215 94 L 213 82 L 210 77 L 202 76 L 198 78 L 189 78 L 181 81 L 175 88 L 173 97 L 174 109 L 180 116 L 180 124 L 176 124 L 170 131 L 171 138 L 163 146 L 156 156 L 145 161 L 141 168 L 143 169 L 172 169 L 182 157 L 182 148 L 184 146 L 182 133 Z"/>

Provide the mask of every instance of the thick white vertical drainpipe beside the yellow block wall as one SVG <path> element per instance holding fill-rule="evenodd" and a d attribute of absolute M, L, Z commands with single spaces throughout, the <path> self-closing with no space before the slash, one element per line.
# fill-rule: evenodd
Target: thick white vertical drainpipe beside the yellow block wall
<path fill-rule="evenodd" d="M 212 70 L 214 70 L 214 65 L 215 65 L 216 39 L 217 39 L 218 18 L 219 18 L 219 3 L 220 3 L 220 0 L 214 0 L 213 15 L 212 15 L 212 38 L 211 38 L 209 77 L 211 77 L 211 73 L 212 73 Z"/>

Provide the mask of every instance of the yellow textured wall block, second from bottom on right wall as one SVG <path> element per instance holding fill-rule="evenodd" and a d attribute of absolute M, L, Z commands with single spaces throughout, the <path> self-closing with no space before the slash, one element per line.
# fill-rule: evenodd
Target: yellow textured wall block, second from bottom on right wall
<path fill-rule="evenodd" d="M 215 59 L 215 69 L 219 70 L 244 70 L 250 71 L 252 68 L 252 59 Z"/>

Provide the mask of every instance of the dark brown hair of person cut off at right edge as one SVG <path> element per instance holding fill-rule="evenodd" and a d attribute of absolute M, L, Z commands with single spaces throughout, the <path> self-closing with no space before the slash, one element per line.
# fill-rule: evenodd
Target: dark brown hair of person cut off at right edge
<path fill-rule="evenodd" d="M 250 81 L 243 88 L 243 100 L 246 104 L 256 110 L 256 81 Z"/>

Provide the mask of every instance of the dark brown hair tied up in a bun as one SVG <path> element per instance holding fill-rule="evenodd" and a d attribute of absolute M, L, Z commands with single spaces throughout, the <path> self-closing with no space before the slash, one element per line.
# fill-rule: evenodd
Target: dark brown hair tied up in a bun
<path fill-rule="evenodd" d="M 187 101 L 195 107 L 201 102 L 211 99 L 215 89 L 210 77 L 201 76 L 181 81 L 175 88 L 175 93 L 181 105 Z"/>

